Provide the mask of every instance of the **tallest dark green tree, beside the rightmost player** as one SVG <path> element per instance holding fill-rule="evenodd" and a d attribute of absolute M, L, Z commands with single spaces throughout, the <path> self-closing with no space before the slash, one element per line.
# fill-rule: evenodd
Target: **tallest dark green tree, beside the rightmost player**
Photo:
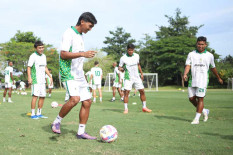
<path fill-rule="evenodd" d="M 185 60 L 188 53 L 195 49 L 196 34 L 200 26 L 188 26 L 188 17 L 181 17 L 181 11 L 176 10 L 176 16 L 168 18 L 169 26 L 159 27 L 156 32 L 154 51 L 154 60 L 158 63 L 156 68 L 159 73 L 160 81 L 165 83 L 169 81 L 184 81 L 182 74 L 185 66 Z"/>

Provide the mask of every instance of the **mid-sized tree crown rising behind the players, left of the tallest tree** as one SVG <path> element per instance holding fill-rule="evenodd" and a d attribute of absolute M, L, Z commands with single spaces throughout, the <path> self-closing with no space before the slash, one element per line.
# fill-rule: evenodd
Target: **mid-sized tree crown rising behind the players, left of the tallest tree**
<path fill-rule="evenodd" d="M 136 40 L 130 39 L 130 33 L 126 33 L 122 27 L 117 27 L 116 31 L 109 31 L 112 35 L 111 37 L 105 37 L 106 40 L 104 44 L 107 47 L 103 47 L 102 50 L 107 53 L 107 55 L 111 55 L 115 60 L 118 60 L 123 53 L 126 52 L 126 47 L 129 43 L 135 43 Z"/>

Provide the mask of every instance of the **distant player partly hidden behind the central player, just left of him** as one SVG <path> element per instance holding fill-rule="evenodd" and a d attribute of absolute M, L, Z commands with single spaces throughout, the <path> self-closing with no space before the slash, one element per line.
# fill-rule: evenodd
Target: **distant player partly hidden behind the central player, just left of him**
<path fill-rule="evenodd" d="M 114 62 L 113 64 L 113 67 L 114 67 L 114 73 L 113 73 L 113 80 L 114 80 L 114 82 L 113 82 L 113 86 L 112 86 L 112 100 L 111 100 L 111 102 L 114 102 L 115 100 L 116 100 L 116 98 L 115 98 L 115 95 L 116 95 L 116 89 L 117 89 L 117 91 L 118 91 L 118 93 L 119 93 L 119 95 L 120 95 L 120 97 L 121 97 L 121 100 L 123 101 L 124 100 L 124 98 L 123 98 L 123 93 L 122 93 L 122 91 L 121 91 L 121 83 L 122 83 L 122 74 L 121 73 L 123 73 L 123 72 L 120 72 L 119 70 L 118 70 L 118 67 L 117 67 L 117 63 L 116 62 Z"/>

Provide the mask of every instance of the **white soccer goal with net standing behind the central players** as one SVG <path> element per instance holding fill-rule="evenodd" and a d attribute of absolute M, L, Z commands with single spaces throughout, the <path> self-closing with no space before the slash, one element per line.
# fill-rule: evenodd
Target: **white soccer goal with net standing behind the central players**
<path fill-rule="evenodd" d="M 114 73 L 108 73 L 104 83 L 104 91 L 112 91 Z M 145 90 L 158 91 L 158 73 L 143 73 Z"/>

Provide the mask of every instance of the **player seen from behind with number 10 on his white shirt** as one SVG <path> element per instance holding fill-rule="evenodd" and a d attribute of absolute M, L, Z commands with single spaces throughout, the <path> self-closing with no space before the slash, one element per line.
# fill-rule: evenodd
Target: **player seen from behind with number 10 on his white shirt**
<path fill-rule="evenodd" d="M 94 63 L 95 67 L 91 68 L 91 79 L 89 84 L 91 84 L 92 81 L 92 90 L 93 90 L 93 102 L 96 102 L 96 88 L 99 91 L 99 97 L 100 97 L 100 102 L 102 102 L 102 91 L 101 91 L 101 81 L 103 77 L 103 71 L 99 67 L 99 62 L 95 61 Z"/>

